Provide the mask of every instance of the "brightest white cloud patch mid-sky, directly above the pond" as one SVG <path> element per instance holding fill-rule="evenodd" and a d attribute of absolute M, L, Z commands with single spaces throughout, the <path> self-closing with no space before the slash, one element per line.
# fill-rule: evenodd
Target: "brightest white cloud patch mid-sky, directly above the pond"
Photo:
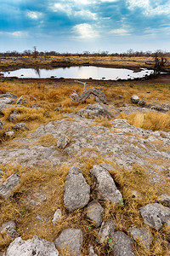
<path fill-rule="evenodd" d="M 78 24 L 73 27 L 73 32 L 76 32 L 78 38 L 98 38 L 99 32 L 94 30 L 94 27 L 88 23 Z"/>

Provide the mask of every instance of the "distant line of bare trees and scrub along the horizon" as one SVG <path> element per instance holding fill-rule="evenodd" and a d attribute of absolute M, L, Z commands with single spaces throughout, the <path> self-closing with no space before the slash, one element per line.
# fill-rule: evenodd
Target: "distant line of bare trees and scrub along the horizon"
<path fill-rule="evenodd" d="M 38 51 L 36 46 L 33 47 L 34 50 L 26 49 L 23 52 L 18 52 L 16 50 L 0 52 L 1 57 L 22 57 L 22 56 L 33 56 L 37 58 L 37 56 L 119 56 L 119 57 L 170 57 L 170 52 L 163 51 L 161 49 L 157 49 L 155 52 L 150 50 L 148 51 L 133 51 L 133 49 L 128 49 L 127 52 L 123 53 L 109 53 L 109 51 L 99 51 L 99 52 L 89 52 L 83 51 L 81 54 L 79 53 L 59 53 L 57 51 Z"/>

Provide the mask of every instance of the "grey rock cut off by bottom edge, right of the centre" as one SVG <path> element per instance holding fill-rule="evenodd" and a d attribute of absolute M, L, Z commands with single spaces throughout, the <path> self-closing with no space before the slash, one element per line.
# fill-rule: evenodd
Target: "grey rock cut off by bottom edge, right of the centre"
<path fill-rule="evenodd" d="M 112 248 L 115 256 L 135 256 L 133 253 L 133 241 L 121 231 L 117 231 L 114 234 Z"/>

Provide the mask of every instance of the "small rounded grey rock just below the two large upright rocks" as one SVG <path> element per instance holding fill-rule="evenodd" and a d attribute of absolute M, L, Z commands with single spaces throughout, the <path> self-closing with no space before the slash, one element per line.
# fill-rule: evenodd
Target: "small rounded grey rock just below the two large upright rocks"
<path fill-rule="evenodd" d="M 102 216 L 104 213 L 104 208 L 101 207 L 99 202 L 92 201 L 87 207 L 87 218 L 94 221 L 94 225 L 98 228 L 102 223 Z"/>

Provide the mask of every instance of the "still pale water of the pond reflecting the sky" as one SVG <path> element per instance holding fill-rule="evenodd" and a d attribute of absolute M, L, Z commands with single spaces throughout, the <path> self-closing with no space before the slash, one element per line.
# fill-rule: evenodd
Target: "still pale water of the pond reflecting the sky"
<path fill-rule="evenodd" d="M 136 79 L 154 73 L 153 70 L 141 68 L 140 72 L 134 72 L 126 68 L 106 68 L 106 67 L 59 67 L 55 69 L 33 69 L 21 68 L 15 71 L 5 72 L 5 77 L 18 77 L 29 79 L 65 78 L 65 79 Z"/>

